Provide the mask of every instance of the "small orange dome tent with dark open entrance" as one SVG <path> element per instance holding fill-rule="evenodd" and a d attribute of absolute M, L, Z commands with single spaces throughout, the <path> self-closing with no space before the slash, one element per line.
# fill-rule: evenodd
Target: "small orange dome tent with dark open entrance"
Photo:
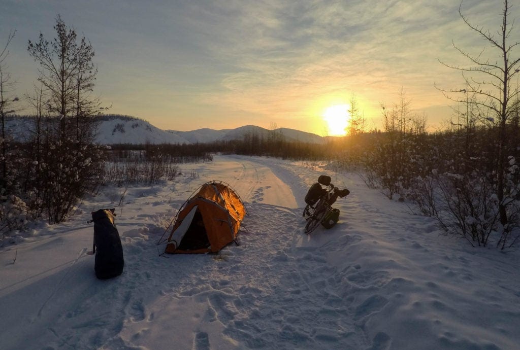
<path fill-rule="evenodd" d="M 236 241 L 245 214 L 242 200 L 230 185 L 207 182 L 177 212 L 165 252 L 218 252 Z"/>

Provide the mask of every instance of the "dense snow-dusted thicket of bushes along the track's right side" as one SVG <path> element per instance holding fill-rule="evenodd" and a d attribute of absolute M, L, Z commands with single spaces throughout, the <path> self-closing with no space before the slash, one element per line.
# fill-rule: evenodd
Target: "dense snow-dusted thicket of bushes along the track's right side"
<path fill-rule="evenodd" d="M 337 162 L 366 184 L 475 246 L 504 249 L 520 238 L 520 127 L 457 124 L 436 133 L 389 130 L 350 138 Z"/>

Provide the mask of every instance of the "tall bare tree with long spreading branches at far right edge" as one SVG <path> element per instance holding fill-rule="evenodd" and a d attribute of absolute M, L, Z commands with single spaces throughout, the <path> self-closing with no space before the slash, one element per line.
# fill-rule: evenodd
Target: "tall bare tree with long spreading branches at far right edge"
<path fill-rule="evenodd" d="M 508 124 L 518 111 L 518 86 L 515 85 L 514 77 L 520 72 L 520 57 L 518 56 L 518 45 L 514 41 L 514 21 L 508 18 L 511 6 L 508 0 L 503 2 L 502 24 L 496 34 L 485 29 L 482 25 L 475 25 L 462 14 L 462 2 L 459 6 L 459 15 L 475 34 L 480 36 L 486 45 L 491 46 L 497 54 L 497 58 L 486 57 L 483 49 L 477 54 L 472 54 L 456 44 L 453 47 L 470 62 L 470 66 L 452 65 L 439 60 L 448 68 L 458 70 L 462 73 L 466 87 L 464 89 L 439 89 L 449 99 L 458 102 L 467 102 L 467 96 L 474 96 L 472 103 L 482 113 L 480 121 L 497 130 L 496 149 L 493 159 L 496 159 L 495 186 L 498 197 L 498 211 L 500 223 L 508 230 L 508 223 L 512 217 L 508 217 L 508 205 L 514 203 L 508 198 L 506 189 L 506 177 L 508 174 L 508 147 L 511 145 L 512 136 L 508 133 Z M 460 97 L 457 97 L 460 96 Z M 490 114 L 488 114 L 490 113 Z M 512 212 L 515 212 L 513 210 Z"/>

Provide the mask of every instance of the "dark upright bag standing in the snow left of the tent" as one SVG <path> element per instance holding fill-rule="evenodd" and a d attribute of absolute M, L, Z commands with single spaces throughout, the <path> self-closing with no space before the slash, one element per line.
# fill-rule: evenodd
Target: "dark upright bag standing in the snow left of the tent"
<path fill-rule="evenodd" d="M 119 276 L 123 273 L 123 246 L 114 224 L 114 209 L 92 212 L 94 221 L 94 247 L 96 253 L 94 271 L 99 279 Z"/>

